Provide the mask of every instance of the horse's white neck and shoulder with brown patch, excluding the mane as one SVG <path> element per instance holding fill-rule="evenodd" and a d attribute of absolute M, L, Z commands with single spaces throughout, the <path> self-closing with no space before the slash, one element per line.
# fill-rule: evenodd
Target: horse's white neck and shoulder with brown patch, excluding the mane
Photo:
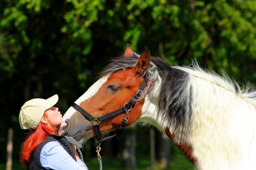
<path fill-rule="evenodd" d="M 146 95 L 139 121 L 167 135 L 197 169 L 239 169 L 254 166 L 256 153 L 255 105 L 212 82 L 191 76 L 192 127 L 175 134 L 163 112 L 157 110 L 161 78 Z M 159 115 L 157 115 L 159 114 Z M 186 127 L 184 127 L 186 131 Z M 176 137 L 174 137 L 176 135 Z M 181 138 L 180 138 L 181 137 Z M 189 153 L 187 153 L 189 151 Z"/>

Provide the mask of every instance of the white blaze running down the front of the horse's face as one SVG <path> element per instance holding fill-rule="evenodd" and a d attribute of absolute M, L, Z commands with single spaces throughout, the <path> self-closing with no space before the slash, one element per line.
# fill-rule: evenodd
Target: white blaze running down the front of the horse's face
<path fill-rule="evenodd" d="M 103 83 L 106 82 L 107 79 L 108 79 L 108 76 L 105 76 L 99 79 L 82 96 L 80 96 L 75 101 L 75 103 L 79 105 L 84 100 L 89 99 L 91 96 L 95 95 L 98 92 L 99 88 L 102 86 Z M 61 121 L 59 135 L 62 135 L 64 127 L 67 126 L 67 123 L 65 122 L 65 120 L 69 119 L 75 112 L 76 110 L 73 107 L 69 107 L 68 110 L 65 112 Z"/>

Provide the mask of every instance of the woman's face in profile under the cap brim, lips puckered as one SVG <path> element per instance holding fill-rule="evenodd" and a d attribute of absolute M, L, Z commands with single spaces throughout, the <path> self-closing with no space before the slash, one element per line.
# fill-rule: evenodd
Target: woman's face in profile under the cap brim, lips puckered
<path fill-rule="evenodd" d="M 45 114 L 45 119 L 48 122 L 48 126 L 51 126 L 52 128 L 56 129 L 57 126 L 61 124 L 62 115 L 60 114 L 58 107 L 48 108 L 47 110 L 45 110 Z"/>

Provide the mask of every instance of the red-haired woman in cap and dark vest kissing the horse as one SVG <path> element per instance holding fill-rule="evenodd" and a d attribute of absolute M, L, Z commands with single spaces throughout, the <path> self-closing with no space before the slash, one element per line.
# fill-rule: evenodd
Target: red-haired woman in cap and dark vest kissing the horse
<path fill-rule="evenodd" d="M 79 158 L 76 147 L 57 135 L 62 115 L 53 107 L 59 97 L 31 99 L 20 109 L 21 129 L 32 130 L 22 144 L 21 162 L 28 169 L 88 170 Z"/>

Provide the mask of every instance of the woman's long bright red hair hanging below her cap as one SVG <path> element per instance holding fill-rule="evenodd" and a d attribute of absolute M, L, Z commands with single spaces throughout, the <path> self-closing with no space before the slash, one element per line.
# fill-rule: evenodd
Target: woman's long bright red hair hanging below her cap
<path fill-rule="evenodd" d="M 47 117 L 47 114 L 44 114 Z M 47 134 L 56 134 L 56 129 L 52 129 L 47 124 L 40 122 L 37 128 L 29 133 L 26 140 L 22 143 L 20 150 L 20 162 L 24 165 L 29 165 L 31 162 L 30 155 L 42 143 L 46 138 Z"/>

